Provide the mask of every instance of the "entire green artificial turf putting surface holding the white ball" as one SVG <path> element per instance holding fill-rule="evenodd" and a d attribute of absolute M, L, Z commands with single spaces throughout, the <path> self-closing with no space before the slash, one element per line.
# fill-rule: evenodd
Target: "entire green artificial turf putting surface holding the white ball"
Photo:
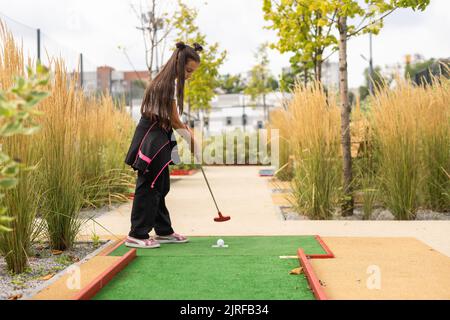
<path fill-rule="evenodd" d="M 219 238 L 228 247 L 212 247 Z M 91 296 L 95 300 L 311 300 L 315 293 L 305 276 L 308 270 L 289 274 L 300 266 L 298 252 L 314 258 L 331 254 L 317 236 L 191 237 L 186 244 L 136 251 L 121 244 L 109 256 L 136 257 Z"/>

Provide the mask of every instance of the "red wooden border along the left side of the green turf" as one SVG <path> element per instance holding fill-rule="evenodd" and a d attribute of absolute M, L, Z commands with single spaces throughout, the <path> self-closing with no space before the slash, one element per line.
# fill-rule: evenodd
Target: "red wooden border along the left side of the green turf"
<path fill-rule="evenodd" d="M 111 281 L 111 279 L 123 268 L 125 268 L 134 258 L 136 258 L 136 249 L 131 249 L 108 269 L 103 271 L 89 285 L 78 292 L 73 297 L 73 300 L 92 299 L 100 291 L 101 288 L 103 288 L 109 281 Z"/>

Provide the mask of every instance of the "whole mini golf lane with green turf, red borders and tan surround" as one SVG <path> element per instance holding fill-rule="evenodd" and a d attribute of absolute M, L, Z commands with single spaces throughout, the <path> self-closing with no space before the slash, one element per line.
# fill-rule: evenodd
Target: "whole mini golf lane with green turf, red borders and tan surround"
<path fill-rule="evenodd" d="M 228 248 L 212 248 L 222 238 Z M 33 300 L 450 298 L 450 258 L 415 238 L 191 237 L 150 250 L 111 242 Z M 330 251 L 330 248 L 333 252 Z M 290 275 L 302 267 L 303 273 Z"/>

